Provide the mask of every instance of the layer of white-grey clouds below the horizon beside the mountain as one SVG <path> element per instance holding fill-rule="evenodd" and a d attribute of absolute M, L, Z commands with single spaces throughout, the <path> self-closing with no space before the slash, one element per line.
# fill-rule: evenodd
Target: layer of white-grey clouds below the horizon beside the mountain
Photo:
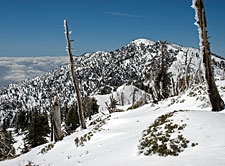
<path fill-rule="evenodd" d="M 0 57 L 0 88 L 27 78 L 40 76 L 67 63 L 67 56 Z"/>

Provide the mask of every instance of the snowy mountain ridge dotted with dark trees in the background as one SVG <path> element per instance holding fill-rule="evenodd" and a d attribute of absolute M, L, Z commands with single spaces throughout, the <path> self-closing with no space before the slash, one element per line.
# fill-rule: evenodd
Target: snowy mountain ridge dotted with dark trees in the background
<path fill-rule="evenodd" d="M 199 50 L 166 44 L 165 66 L 171 72 L 174 83 L 185 73 L 190 64 L 189 75 L 194 77 L 200 71 L 203 75 Z M 98 51 L 76 58 L 77 75 L 82 95 L 109 94 L 123 84 L 133 84 L 149 91 L 161 64 L 161 43 L 138 39 L 112 52 Z M 225 60 L 212 56 L 216 76 L 224 76 Z M 32 110 L 37 106 L 49 111 L 50 95 L 59 96 L 62 106 L 74 99 L 70 65 L 62 65 L 40 77 L 27 79 L 18 84 L 10 84 L 0 91 L 0 122 L 8 118 L 13 122 L 18 110 Z"/>

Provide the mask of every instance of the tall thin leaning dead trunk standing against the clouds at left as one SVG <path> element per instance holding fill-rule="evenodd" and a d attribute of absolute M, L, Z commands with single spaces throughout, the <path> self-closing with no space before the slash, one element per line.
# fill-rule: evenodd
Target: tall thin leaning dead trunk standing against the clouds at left
<path fill-rule="evenodd" d="M 72 48 L 71 48 L 71 41 L 69 38 L 69 28 L 67 25 L 67 20 L 64 20 L 64 26 L 65 26 L 65 35 L 66 35 L 66 41 L 67 41 L 67 50 L 68 54 L 70 57 L 70 63 L 71 63 L 71 72 L 72 72 L 72 77 L 73 77 L 73 84 L 74 84 L 74 90 L 77 94 L 77 102 L 78 102 L 78 115 L 79 115 L 79 120 L 80 120 L 80 125 L 82 129 L 86 129 L 86 123 L 84 119 L 84 113 L 83 113 L 83 106 L 82 106 L 82 101 L 80 97 L 80 90 L 78 86 L 78 80 L 75 74 L 75 66 L 74 66 L 74 61 L 73 61 L 73 55 L 72 55 Z"/>

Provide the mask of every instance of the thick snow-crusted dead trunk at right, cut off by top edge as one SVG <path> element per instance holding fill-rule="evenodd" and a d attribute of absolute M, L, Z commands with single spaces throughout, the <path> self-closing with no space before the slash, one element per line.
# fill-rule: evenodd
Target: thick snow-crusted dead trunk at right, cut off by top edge
<path fill-rule="evenodd" d="M 193 8 L 196 12 L 197 26 L 199 28 L 200 51 L 203 54 L 203 63 L 205 66 L 205 78 L 208 84 L 208 94 L 212 104 L 212 111 L 221 111 L 224 109 L 224 101 L 220 97 L 215 84 L 214 75 L 211 67 L 210 43 L 207 36 L 207 23 L 203 0 L 193 0 Z"/>

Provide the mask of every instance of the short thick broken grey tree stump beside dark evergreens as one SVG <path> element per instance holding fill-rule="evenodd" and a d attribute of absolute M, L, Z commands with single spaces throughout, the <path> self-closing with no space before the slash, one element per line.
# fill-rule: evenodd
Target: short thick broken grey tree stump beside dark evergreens
<path fill-rule="evenodd" d="M 52 121 L 53 121 L 55 141 L 62 140 L 63 133 L 61 130 L 60 104 L 59 104 L 59 99 L 57 96 L 56 96 L 55 103 L 53 105 Z"/>

